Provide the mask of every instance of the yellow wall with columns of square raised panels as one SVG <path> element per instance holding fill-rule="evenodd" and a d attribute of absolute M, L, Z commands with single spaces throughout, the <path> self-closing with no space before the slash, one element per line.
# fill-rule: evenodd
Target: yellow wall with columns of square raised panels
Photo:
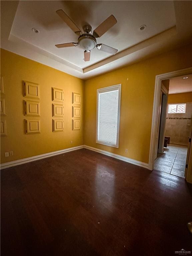
<path fill-rule="evenodd" d="M 80 93 L 83 101 L 81 79 L 3 49 L 1 75 L 4 77 L 7 115 L 1 118 L 7 122 L 8 134 L 1 137 L 1 163 L 83 145 L 83 129 L 72 131 L 72 92 Z M 23 97 L 23 80 L 40 84 L 40 134 L 24 132 L 23 102 L 26 98 Z M 52 132 L 51 87 L 64 90 L 63 132 Z M 70 144 L 71 140 L 73 144 Z M 4 153 L 9 151 L 14 155 L 5 157 Z"/>

